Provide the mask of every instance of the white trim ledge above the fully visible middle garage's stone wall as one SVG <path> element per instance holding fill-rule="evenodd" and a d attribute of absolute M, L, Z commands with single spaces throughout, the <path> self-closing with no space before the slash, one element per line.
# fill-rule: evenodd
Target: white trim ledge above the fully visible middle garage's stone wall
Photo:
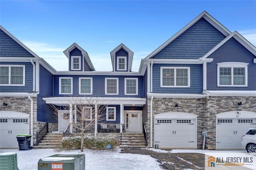
<path fill-rule="evenodd" d="M 154 98 L 204 98 L 206 94 L 162 94 L 162 93 L 148 93 L 148 96 Z"/>

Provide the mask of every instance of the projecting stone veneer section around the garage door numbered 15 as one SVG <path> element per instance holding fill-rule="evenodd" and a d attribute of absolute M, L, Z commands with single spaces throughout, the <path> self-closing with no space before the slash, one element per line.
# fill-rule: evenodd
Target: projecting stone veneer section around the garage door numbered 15
<path fill-rule="evenodd" d="M 208 96 L 205 99 L 204 119 L 207 127 L 206 149 L 216 149 L 216 116 L 222 112 L 250 111 L 256 112 L 256 97 L 241 96 Z M 242 106 L 238 106 L 238 102 Z"/>

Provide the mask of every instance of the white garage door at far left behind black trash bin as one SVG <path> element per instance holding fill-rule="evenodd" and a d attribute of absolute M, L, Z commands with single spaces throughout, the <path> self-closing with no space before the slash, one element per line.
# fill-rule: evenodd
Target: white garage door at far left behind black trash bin
<path fill-rule="evenodd" d="M 26 117 L 20 116 L 14 118 L 7 118 L 7 116 L 0 115 L 0 148 L 18 148 L 16 135 L 29 134 L 29 118 L 27 115 L 25 115 Z M 17 115 L 8 116 L 13 117 Z"/>

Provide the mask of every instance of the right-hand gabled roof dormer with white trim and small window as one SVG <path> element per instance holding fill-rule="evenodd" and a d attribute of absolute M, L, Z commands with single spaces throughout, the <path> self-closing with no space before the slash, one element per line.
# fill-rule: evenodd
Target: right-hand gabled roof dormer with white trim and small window
<path fill-rule="evenodd" d="M 113 71 L 130 72 L 132 70 L 133 52 L 120 44 L 110 52 Z"/>

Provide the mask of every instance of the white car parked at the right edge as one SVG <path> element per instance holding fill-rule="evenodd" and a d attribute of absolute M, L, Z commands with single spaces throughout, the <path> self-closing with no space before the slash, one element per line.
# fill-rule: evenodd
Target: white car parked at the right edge
<path fill-rule="evenodd" d="M 247 152 L 256 154 L 256 128 L 250 128 L 248 132 L 242 136 L 241 143 Z"/>

